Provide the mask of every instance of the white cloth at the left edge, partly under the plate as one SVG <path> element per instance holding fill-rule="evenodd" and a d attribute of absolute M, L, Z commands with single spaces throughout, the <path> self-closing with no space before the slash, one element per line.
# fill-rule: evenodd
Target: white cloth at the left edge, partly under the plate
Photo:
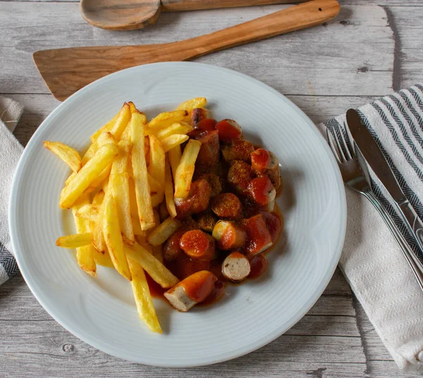
<path fill-rule="evenodd" d="M 12 132 L 23 113 L 23 106 L 17 101 L 0 96 L 0 284 L 17 272 L 8 232 L 8 200 L 13 173 L 18 164 L 23 146 Z"/>

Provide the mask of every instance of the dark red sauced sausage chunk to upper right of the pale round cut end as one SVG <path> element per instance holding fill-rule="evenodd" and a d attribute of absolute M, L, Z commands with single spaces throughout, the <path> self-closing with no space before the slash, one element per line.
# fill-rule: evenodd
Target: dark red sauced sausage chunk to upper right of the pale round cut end
<path fill-rule="evenodd" d="M 244 219 L 242 223 L 248 237 L 247 246 L 245 247 L 248 256 L 258 255 L 273 244 L 262 214 Z"/>

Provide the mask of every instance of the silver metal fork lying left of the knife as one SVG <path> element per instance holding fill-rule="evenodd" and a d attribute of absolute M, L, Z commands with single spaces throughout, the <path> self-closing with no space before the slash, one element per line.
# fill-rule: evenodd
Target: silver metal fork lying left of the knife
<path fill-rule="evenodd" d="M 338 137 L 337 134 L 339 134 L 340 137 Z M 351 146 L 351 144 L 349 146 L 345 141 L 343 131 L 341 129 L 339 130 L 339 133 L 331 133 L 329 129 L 326 129 L 326 137 L 333 155 L 338 162 L 343 182 L 345 182 L 345 185 L 350 189 L 353 189 L 366 197 L 373 204 L 376 210 L 378 210 L 382 219 L 388 226 L 388 229 L 391 230 L 393 237 L 395 237 L 398 242 L 408 265 L 410 265 L 420 288 L 423 290 L 423 265 L 420 263 L 419 259 L 415 256 L 415 253 L 404 239 L 403 234 L 401 234 L 396 227 L 391 215 L 389 215 L 389 213 L 381 205 L 379 199 L 374 195 L 372 189 L 370 188 L 370 176 L 364 157 L 360 156 L 360 151 L 358 149 L 355 149 L 355 151 L 357 151 L 357 155 L 355 154 L 353 146 Z M 353 141 L 350 136 L 348 137 L 349 141 Z M 335 144 L 333 144 L 333 139 L 335 139 Z"/>

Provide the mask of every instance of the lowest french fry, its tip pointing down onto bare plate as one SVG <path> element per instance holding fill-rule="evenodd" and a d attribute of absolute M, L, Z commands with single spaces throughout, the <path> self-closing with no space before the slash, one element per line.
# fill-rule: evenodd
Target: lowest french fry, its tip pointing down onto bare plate
<path fill-rule="evenodd" d="M 130 285 L 133 289 L 135 303 L 137 305 L 138 315 L 152 332 L 162 333 L 157 319 L 156 310 L 154 309 L 152 296 L 149 292 L 147 279 L 145 278 L 144 269 L 133 258 L 128 258 L 128 265 L 133 277 Z"/>

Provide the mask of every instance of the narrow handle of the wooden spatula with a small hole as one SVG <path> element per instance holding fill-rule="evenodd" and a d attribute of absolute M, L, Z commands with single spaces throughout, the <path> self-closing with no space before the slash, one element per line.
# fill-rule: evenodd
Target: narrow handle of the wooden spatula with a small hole
<path fill-rule="evenodd" d="M 340 10 L 336 0 L 312 0 L 291 6 L 240 25 L 168 45 L 173 61 L 185 61 L 240 44 L 259 41 L 278 34 L 319 25 L 335 17 Z M 164 52 L 164 51 L 162 51 Z M 167 60 L 161 56 L 161 60 Z"/>

